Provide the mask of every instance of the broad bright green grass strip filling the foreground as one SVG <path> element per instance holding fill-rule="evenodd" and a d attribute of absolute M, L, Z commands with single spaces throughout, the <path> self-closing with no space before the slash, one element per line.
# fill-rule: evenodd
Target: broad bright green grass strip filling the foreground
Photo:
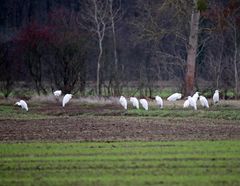
<path fill-rule="evenodd" d="M 0 185 L 239 185 L 239 141 L 1 143 Z"/>

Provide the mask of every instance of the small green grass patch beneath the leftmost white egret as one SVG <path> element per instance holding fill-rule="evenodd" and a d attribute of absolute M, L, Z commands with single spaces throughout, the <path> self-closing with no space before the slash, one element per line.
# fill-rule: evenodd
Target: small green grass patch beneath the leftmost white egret
<path fill-rule="evenodd" d="M 14 105 L 0 105 L 0 119 L 47 119 L 49 116 L 25 111 Z"/>

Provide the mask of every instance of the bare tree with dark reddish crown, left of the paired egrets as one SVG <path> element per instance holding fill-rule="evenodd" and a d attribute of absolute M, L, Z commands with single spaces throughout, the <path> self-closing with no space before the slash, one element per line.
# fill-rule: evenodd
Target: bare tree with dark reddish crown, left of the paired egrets
<path fill-rule="evenodd" d="M 29 73 L 35 83 L 37 93 L 47 94 L 46 88 L 43 85 L 44 72 L 43 62 L 44 55 L 48 50 L 49 42 L 52 39 L 52 34 L 49 28 L 41 27 L 33 22 L 26 28 L 21 30 L 17 36 L 18 50 L 23 55 Z"/>

